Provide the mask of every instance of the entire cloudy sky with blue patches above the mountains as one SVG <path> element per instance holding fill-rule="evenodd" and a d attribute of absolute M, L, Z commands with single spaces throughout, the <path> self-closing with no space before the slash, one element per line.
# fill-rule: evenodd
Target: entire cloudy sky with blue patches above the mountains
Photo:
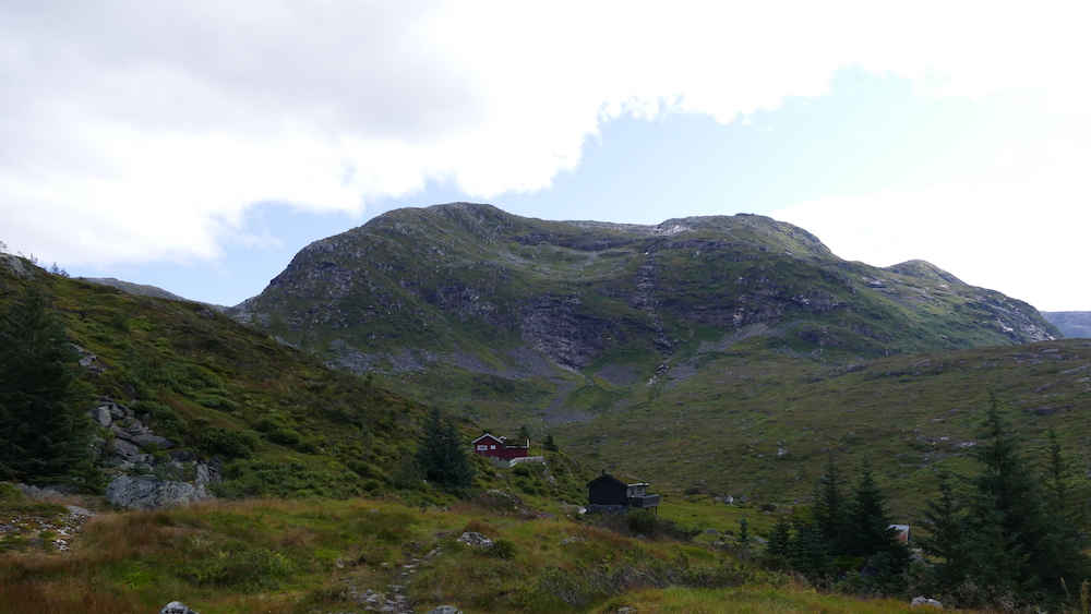
<path fill-rule="evenodd" d="M 0 242 L 232 305 L 399 207 L 753 213 L 1091 311 L 1086 12 L 0 0 Z"/>

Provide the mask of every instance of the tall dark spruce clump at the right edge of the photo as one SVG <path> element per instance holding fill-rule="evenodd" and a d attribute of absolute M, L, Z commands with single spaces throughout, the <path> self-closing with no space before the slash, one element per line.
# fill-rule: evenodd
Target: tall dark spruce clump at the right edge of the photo
<path fill-rule="evenodd" d="M 932 535 L 921 540 L 934 561 L 924 580 L 961 606 L 1057 606 L 1091 574 L 1086 480 L 1052 431 L 1045 458 L 1032 462 L 995 397 L 984 422 L 973 448 L 978 472 L 939 473 L 925 514 Z"/>

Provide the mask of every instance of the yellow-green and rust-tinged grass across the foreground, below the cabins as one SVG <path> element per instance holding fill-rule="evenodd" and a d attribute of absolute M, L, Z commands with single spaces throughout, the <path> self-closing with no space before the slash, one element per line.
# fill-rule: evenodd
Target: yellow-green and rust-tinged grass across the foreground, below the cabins
<path fill-rule="evenodd" d="M 403 595 L 416 612 L 451 604 L 468 614 L 909 611 L 816 593 L 740 563 L 735 547 L 619 534 L 555 506 L 505 506 L 482 495 L 445 508 L 250 501 L 104 513 L 71 552 L 0 555 L 0 611 L 137 614 L 180 600 L 208 614 L 326 614 L 363 611 L 368 590 Z M 499 545 L 458 543 L 466 531 Z M 650 590 L 655 582 L 690 588 Z"/>

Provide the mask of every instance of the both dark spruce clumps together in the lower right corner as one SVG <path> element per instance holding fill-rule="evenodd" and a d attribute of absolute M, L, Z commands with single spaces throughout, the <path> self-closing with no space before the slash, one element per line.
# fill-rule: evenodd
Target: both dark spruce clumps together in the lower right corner
<path fill-rule="evenodd" d="M 919 539 L 926 559 L 898 542 L 867 463 L 847 492 L 830 457 L 811 514 L 772 527 L 767 562 L 818 586 L 889 595 L 911 589 L 959 607 L 1060 606 L 1091 576 L 1086 480 L 1052 432 L 1046 457 L 1031 462 L 995 398 L 970 456 L 973 474 L 938 472 L 925 513 L 931 534 Z"/>

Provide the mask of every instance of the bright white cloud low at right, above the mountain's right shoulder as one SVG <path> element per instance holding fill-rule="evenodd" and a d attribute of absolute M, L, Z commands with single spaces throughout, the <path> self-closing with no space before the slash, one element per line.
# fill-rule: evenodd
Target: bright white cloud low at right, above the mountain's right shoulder
<path fill-rule="evenodd" d="M 1091 151 L 1057 146 L 1052 139 L 1014 141 L 968 177 L 915 192 L 826 196 L 771 215 L 814 232 L 847 260 L 926 260 L 1043 311 L 1087 310 Z"/>

